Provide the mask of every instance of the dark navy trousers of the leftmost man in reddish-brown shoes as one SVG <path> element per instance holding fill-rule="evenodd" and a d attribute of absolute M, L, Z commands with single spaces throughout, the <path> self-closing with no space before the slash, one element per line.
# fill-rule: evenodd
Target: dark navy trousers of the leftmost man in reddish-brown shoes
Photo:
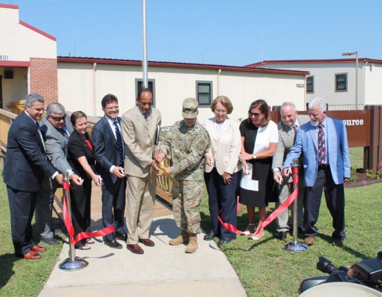
<path fill-rule="evenodd" d="M 37 192 L 24 192 L 6 186 L 10 211 L 10 230 L 14 253 L 22 257 L 36 245 L 33 241 L 32 218 Z"/>

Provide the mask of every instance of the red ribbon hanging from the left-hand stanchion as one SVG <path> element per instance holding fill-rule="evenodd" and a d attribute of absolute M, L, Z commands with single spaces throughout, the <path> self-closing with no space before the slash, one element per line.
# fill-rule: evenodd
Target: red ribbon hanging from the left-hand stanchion
<path fill-rule="evenodd" d="M 62 187 L 69 192 L 70 189 L 69 189 L 68 181 L 63 180 Z M 105 236 L 115 231 L 114 226 L 109 226 L 95 232 L 81 232 L 77 234 L 76 238 L 74 238 L 74 227 L 73 227 L 72 220 L 70 219 L 70 216 L 69 216 L 68 197 L 66 196 L 65 191 L 64 191 L 64 201 L 63 201 L 63 216 L 64 216 L 64 224 L 66 229 L 68 230 L 69 240 L 71 244 L 76 244 L 80 240 L 89 238 L 89 237 Z"/>

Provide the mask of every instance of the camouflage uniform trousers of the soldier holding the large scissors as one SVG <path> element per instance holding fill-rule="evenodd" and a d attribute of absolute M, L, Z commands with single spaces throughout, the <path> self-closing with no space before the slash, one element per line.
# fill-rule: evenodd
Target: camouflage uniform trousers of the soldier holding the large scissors
<path fill-rule="evenodd" d="M 203 181 L 183 180 L 173 185 L 173 212 L 175 223 L 188 233 L 200 233 L 200 201 Z"/>

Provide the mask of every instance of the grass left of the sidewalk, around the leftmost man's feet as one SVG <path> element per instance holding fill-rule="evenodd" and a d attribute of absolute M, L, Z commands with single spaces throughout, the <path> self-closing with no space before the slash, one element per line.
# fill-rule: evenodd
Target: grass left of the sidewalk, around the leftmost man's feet
<path fill-rule="evenodd" d="M 0 296 L 37 296 L 56 264 L 62 240 L 60 245 L 56 246 L 41 244 L 48 248 L 42 253 L 41 260 L 25 260 L 14 256 L 10 235 L 9 204 L 2 177 L 0 181 L 0 242 Z"/>

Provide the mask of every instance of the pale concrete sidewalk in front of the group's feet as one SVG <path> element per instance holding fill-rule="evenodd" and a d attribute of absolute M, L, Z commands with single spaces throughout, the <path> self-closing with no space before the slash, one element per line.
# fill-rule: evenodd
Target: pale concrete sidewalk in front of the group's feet
<path fill-rule="evenodd" d="M 83 270 L 67 272 L 58 264 L 68 257 L 64 244 L 39 297 L 128 295 L 137 297 L 244 297 L 247 296 L 235 271 L 214 241 L 198 235 L 198 249 L 185 253 L 185 245 L 171 246 L 179 235 L 173 216 L 154 218 L 151 238 L 154 247 L 140 243 L 145 253 L 112 249 L 96 238 L 90 250 L 76 250 L 89 262 Z M 123 243 L 119 241 L 120 243 Z"/>

